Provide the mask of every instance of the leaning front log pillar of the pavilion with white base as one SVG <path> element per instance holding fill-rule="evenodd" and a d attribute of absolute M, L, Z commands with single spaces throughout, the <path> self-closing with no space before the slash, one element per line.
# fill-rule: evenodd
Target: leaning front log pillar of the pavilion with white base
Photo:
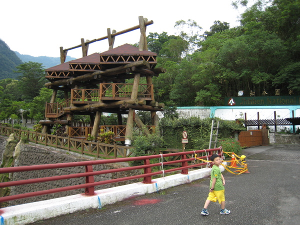
<path fill-rule="evenodd" d="M 131 99 L 137 98 L 137 92 L 138 92 L 138 84 L 139 84 L 139 78 L 140 73 L 135 73 L 134 80 L 133 80 L 133 86 L 132 86 L 132 92 L 131 92 Z M 133 131 L 133 114 L 134 109 L 129 108 L 128 117 L 127 117 L 127 124 L 126 124 L 126 132 L 125 132 L 125 145 L 131 144 L 132 139 L 132 131 Z"/>

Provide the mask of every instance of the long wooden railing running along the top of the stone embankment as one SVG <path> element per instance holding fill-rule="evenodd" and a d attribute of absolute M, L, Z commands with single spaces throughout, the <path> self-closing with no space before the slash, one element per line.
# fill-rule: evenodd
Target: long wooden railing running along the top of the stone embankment
<path fill-rule="evenodd" d="M 57 136 L 53 134 L 15 129 L 12 127 L 0 125 L 1 135 L 9 136 L 11 133 L 14 133 L 15 137 L 18 139 L 20 139 L 21 137 L 27 137 L 27 139 L 31 142 L 44 144 L 46 146 L 52 146 L 56 148 L 62 148 L 80 154 L 92 155 L 95 157 L 117 158 L 129 157 L 131 155 L 131 146 L 104 144 L 98 141 L 87 141 L 83 138 Z"/>

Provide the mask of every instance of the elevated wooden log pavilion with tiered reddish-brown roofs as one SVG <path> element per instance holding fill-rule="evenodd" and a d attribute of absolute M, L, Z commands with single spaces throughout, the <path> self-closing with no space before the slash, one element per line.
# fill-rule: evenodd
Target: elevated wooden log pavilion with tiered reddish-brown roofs
<path fill-rule="evenodd" d="M 82 48 L 82 58 L 64 62 L 68 50 L 60 47 L 61 64 L 47 68 L 45 77 L 49 82 L 45 86 L 53 89 L 50 102 L 46 102 L 45 120 L 40 123 L 44 125 L 43 132 L 49 132 L 52 124 L 65 124 L 68 134 L 71 136 L 83 136 L 72 128 L 70 121 L 74 114 L 89 115 L 91 125 L 89 128 L 80 128 L 96 137 L 102 112 L 116 113 L 118 125 L 113 128 L 115 135 L 130 144 L 132 130 L 137 127 L 145 134 L 149 133 L 135 110 L 150 111 L 152 126 L 158 124 L 156 111 L 162 111 L 163 103 L 154 100 L 152 77 L 165 72 L 165 69 L 156 68 L 156 53 L 147 50 L 146 26 L 153 21 L 147 21 L 139 16 L 139 25 L 126 30 L 110 33 L 107 29 L 107 36 L 84 42 L 75 47 Z M 123 44 L 113 48 L 116 35 L 140 29 L 139 46 Z M 88 44 L 108 39 L 108 50 L 102 53 L 87 55 Z M 140 77 L 146 77 L 145 83 L 140 83 Z M 133 79 L 132 83 L 125 80 Z M 63 90 L 65 100 L 55 102 L 57 90 Z M 122 124 L 121 115 L 127 114 L 127 123 Z M 103 127 L 102 127 L 103 128 Z M 111 130 L 107 128 L 107 130 Z M 122 136 L 119 135 L 122 133 Z"/>

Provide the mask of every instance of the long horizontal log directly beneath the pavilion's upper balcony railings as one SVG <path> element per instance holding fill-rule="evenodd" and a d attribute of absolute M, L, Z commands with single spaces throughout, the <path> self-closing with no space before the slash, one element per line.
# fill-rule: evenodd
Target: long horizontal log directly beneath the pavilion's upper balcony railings
<path fill-rule="evenodd" d="M 119 107 L 120 104 L 137 104 L 138 100 L 137 99 L 127 99 L 127 100 L 119 100 L 119 101 L 114 101 L 112 103 L 104 103 L 104 102 L 97 102 L 94 104 L 86 104 L 82 106 L 69 106 L 63 108 L 63 111 L 89 111 L 93 110 L 93 108 L 114 108 L 114 107 Z M 97 110 L 95 110 L 97 111 Z"/>

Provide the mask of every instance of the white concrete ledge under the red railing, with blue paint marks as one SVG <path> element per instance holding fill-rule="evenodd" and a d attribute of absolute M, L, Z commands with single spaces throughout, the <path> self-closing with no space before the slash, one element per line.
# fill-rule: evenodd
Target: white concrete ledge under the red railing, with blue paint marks
<path fill-rule="evenodd" d="M 220 169 L 224 171 L 223 166 L 220 166 Z M 202 168 L 189 171 L 187 175 L 175 174 L 152 179 L 152 183 L 149 184 L 138 182 L 96 190 L 92 196 L 82 193 L 0 208 L 0 225 L 27 224 L 87 208 L 101 208 L 106 204 L 189 183 L 209 175 L 210 168 Z"/>

